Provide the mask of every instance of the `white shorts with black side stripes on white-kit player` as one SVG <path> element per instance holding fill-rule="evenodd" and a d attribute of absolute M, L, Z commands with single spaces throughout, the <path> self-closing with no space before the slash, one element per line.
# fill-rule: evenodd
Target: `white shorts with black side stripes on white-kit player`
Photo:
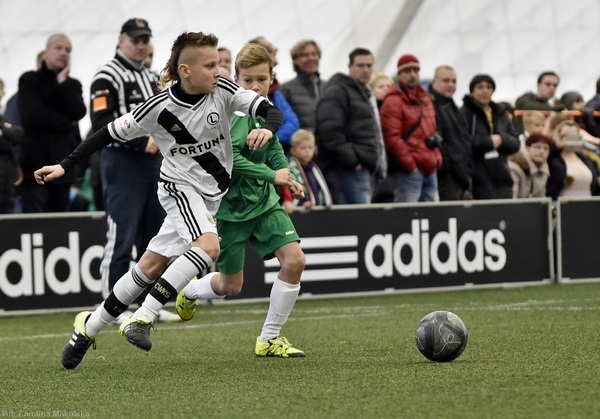
<path fill-rule="evenodd" d="M 158 200 L 167 213 L 148 250 L 169 258 L 180 256 L 204 233 L 217 234 L 214 216 L 221 200 L 208 201 L 188 185 L 160 181 Z"/>

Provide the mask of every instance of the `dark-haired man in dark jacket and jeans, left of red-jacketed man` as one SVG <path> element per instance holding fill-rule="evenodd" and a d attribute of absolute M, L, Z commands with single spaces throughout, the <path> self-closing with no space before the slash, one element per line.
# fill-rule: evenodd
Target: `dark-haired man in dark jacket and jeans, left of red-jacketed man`
<path fill-rule="evenodd" d="M 352 51 L 349 75 L 335 74 L 317 105 L 320 162 L 334 204 L 370 203 L 373 178 L 384 174 L 377 102 L 368 87 L 373 62 L 369 50 Z"/>

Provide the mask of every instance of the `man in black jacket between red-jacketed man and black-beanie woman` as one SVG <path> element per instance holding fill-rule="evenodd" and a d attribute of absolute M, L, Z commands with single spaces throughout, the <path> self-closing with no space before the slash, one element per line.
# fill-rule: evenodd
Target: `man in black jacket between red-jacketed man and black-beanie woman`
<path fill-rule="evenodd" d="M 473 153 L 467 124 L 452 98 L 455 92 L 456 71 L 447 65 L 436 68 L 429 93 L 443 140 L 440 146 L 442 167 L 437 172 L 440 201 L 472 197 Z"/>

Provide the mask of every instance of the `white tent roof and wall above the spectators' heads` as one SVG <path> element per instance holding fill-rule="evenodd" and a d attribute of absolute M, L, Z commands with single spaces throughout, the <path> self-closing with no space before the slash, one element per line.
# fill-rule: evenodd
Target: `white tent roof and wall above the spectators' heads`
<path fill-rule="evenodd" d="M 0 0 L 0 78 L 7 98 L 21 73 L 32 69 L 49 35 L 73 43 L 73 77 L 89 94 L 96 68 L 114 55 L 123 22 L 143 17 L 153 30 L 154 67 L 160 70 L 182 31 L 215 33 L 234 53 L 264 35 L 279 47 L 280 81 L 294 77 L 289 50 L 301 39 L 320 45 L 325 79 L 347 69 L 355 47 L 375 53 L 377 70 L 393 75 L 403 53 L 421 60 L 421 78 L 440 64 L 457 69 L 461 102 L 471 77 L 485 72 L 496 81 L 496 101 L 514 102 L 535 90 L 537 75 L 555 70 L 559 95 L 595 93 L 600 57 L 600 2 L 579 0 Z M 379 56 L 379 57 L 378 57 Z M 89 118 L 81 122 L 82 132 Z"/>

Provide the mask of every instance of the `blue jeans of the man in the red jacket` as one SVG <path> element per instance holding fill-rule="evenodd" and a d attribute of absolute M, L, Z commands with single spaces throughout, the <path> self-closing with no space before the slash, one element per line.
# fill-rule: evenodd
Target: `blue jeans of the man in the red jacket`
<path fill-rule="evenodd" d="M 419 170 L 394 173 L 395 202 L 439 201 L 437 174 L 423 175 Z"/>

